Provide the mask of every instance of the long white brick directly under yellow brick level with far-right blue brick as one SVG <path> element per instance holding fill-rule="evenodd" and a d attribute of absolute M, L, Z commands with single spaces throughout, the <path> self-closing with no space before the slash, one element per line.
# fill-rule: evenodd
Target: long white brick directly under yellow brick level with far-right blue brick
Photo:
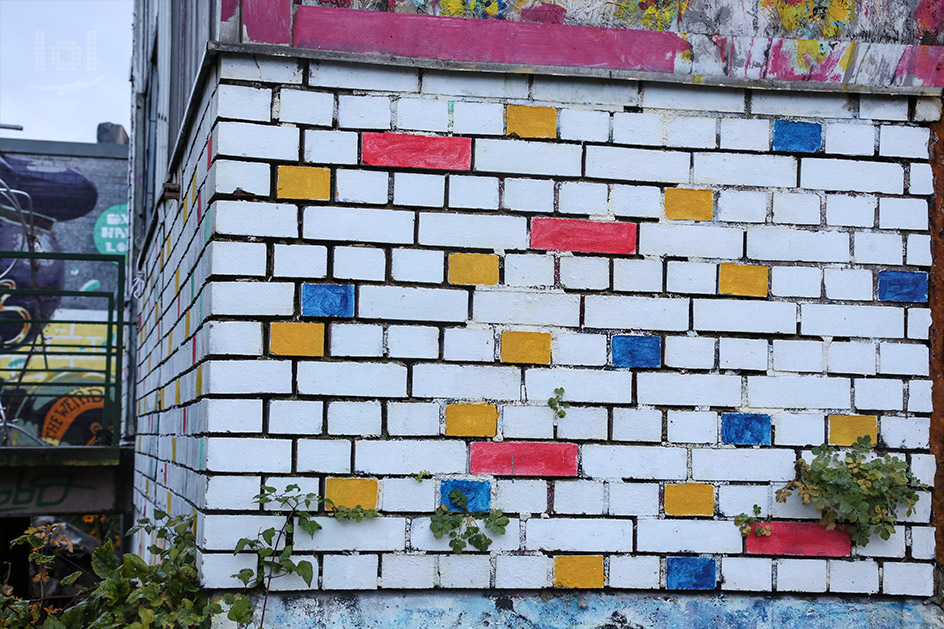
<path fill-rule="evenodd" d="M 796 332 L 796 304 L 737 299 L 695 299 L 695 330 L 713 332 Z"/>

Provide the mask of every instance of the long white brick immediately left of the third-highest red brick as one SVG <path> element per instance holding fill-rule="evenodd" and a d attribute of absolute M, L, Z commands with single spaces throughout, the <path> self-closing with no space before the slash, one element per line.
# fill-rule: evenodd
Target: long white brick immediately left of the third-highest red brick
<path fill-rule="evenodd" d="M 421 468 L 433 474 L 463 474 L 466 446 L 458 441 L 357 441 L 354 469 L 365 474 L 413 474 Z M 411 479 L 412 480 L 412 479 Z"/>

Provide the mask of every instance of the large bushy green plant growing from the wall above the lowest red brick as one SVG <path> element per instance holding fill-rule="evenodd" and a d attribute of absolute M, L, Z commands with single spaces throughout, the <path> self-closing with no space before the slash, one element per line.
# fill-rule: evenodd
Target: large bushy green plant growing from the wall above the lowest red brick
<path fill-rule="evenodd" d="M 920 483 L 908 464 L 886 454 L 872 456 L 872 440 L 860 437 L 846 452 L 827 444 L 813 448 L 812 463 L 797 462 L 797 478 L 777 490 L 777 501 L 786 502 L 796 491 L 804 504 L 823 512 L 819 523 L 827 530 L 847 527 L 856 544 L 865 546 L 878 533 L 888 539 L 895 531 L 896 512 L 908 505 L 914 513 Z"/>

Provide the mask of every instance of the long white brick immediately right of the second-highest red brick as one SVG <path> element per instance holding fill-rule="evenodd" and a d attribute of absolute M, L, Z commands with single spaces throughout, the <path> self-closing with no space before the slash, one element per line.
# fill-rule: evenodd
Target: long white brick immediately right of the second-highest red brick
<path fill-rule="evenodd" d="M 737 259 L 743 251 L 744 231 L 741 229 L 656 223 L 639 226 L 639 253 L 643 255 Z"/>

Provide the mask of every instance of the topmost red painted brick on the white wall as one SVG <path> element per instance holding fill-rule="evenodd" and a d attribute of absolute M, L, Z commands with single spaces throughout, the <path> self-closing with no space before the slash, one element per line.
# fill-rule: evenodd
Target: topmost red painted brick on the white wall
<path fill-rule="evenodd" d="M 365 133 L 363 162 L 396 168 L 469 170 L 472 167 L 470 138 L 443 138 L 408 133 Z"/>

